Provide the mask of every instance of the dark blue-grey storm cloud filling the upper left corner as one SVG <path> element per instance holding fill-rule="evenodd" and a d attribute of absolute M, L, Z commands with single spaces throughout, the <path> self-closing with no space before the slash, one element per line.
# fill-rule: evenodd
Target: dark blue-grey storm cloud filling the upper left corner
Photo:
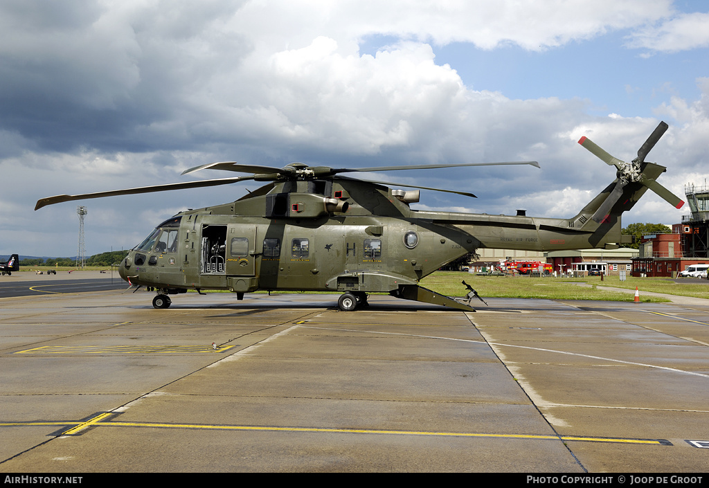
<path fill-rule="evenodd" d="M 213 24 L 235 9 L 220 2 L 127 2 L 123 10 L 4 2 L 0 129 L 46 151 L 199 145 L 193 131 L 209 113 L 196 94 L 248 51 L 238 33 L 210 39 Z"/>

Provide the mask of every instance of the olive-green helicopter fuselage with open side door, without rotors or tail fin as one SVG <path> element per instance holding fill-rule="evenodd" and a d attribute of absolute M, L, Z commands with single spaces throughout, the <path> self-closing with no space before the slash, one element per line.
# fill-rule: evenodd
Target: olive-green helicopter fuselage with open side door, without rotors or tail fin
<path fill-rule="evenodd" d="M 590 235 L 562 219 L 415 211 L 406 196 L 353 179 L 285 182 L 177 214 L 119 272 L 172 292 L 392 292 L 478 248 L 588 248 Z"/>

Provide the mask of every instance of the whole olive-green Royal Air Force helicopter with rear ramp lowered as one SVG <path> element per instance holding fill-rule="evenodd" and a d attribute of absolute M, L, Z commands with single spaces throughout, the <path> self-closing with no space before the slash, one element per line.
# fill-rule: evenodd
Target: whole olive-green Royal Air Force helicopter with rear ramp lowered
<path fill-rule="evenodd" d="M 308 166 L 294 162 L 276 168 L 238 162 L 215 162 L 183 172 L 227 170 L 247 176 L 160 184 L 108 192 L 57 195 L 40 199 L 35 210 L 50 204 L 104 196 L 211 187 L 246 180 L 264 186 L 236 201 L 179 212 L 160 223 L 130 250 L 119 275 L 133 287 L 155 289 L 156 309 L 172 303 L 169 295 L 194 289 L 244 294 L 264 290 L 341 293 L 337 306 L 354 311 L 367 306 L 372 293 L 475 311 L 467 302 L 421 287 L 423 277 L 479 248 L 569 250 L 618 248 L 630 243 L 622 235 L 620 216 L 652 190 L 676 208 L 683 201 L 656 179 L 666 168 L 646 162 L 647 153 L 667 130 L 661 122 L 624 162 L 583 137 L 584 148 L 608 165 L 616 178 L 571 218 L 467 214 L 411 209 L 420 189 L 474 197 L 469 192 L 435 189 L 348 177 L 344 173 L 423 170 L 484 165 L 532 165 L 536 161 L 405 165 L 367 168 Z M 416 188 L 391 189 L 389 186 Z M 482 300 L 482 299 L 481 299 Z"/>

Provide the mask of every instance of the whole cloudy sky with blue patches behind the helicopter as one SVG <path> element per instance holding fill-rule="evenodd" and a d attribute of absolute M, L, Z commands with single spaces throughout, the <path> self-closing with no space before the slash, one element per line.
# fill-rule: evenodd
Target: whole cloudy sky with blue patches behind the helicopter
<path fill-rule="evenodd" d="M 4 0 L 0 255 L 129 249 L 241 182 L 34 211 L 82 194 L 238 174 L 217 161 L 375 167 L 537 160 L 361 174 L 422 191 L 415 209 L 569 217 L 612 182 L 576 141 L 646 160 L 683 198 L 709 177 L 709 6 L 671 0 Z M 684 199 L 684 198 L 683 198 Z M 678 223 L 647 192 L 623 217 Z"/>

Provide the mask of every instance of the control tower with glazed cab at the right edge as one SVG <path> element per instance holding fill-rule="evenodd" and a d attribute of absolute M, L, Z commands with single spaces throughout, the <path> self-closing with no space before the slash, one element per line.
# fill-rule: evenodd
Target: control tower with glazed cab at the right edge
<path fill-rule="evenodd" d="M 682 248 L 685 257 L 709 257 L 709 185 L 686 184 L 684 194 L 691 215 L 682 216 Z"/>

